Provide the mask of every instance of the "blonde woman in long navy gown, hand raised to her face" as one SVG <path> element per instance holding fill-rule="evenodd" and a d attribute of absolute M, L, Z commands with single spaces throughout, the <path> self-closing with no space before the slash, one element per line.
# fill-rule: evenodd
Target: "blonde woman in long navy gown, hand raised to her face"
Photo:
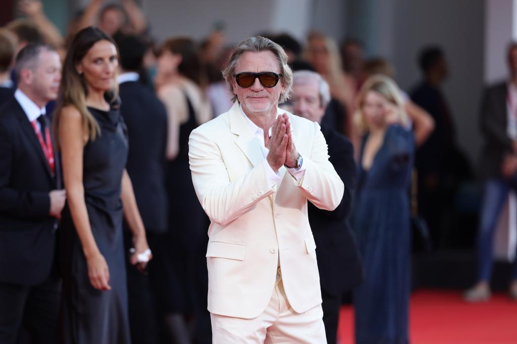
<path fill-rule="evenodd" d="M 396 84 L 373 76 L 359 95 L 363 133 L 353 213 L 364 283 L 354 291 L 357 344 L 407 344 L 410 292 L 408 185 L 414 136 Z"/>

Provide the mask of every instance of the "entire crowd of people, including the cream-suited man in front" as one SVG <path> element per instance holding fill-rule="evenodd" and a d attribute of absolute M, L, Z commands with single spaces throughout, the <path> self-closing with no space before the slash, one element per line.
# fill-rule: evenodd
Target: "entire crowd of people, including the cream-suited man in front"
<path fill-rule="evenodd" d="M 414 220 L 445 245 L 473 175 L 439 47 L 406 93 L 354 39 L 158 44 L 133 0 L 90 1 L 66 35 L 20 10 L 0 28 L 1 343 L 336 343 L 347 295 L 358 344 L 409 341 Z M 515 189 L 516 44 L 508 62 L 481 107 L 470 302 Z"/>

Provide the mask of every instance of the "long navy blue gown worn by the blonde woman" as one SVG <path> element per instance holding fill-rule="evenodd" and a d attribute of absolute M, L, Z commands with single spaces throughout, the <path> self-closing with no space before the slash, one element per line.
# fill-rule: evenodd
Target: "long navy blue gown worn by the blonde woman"
<path fill-rule="evenodd" d="M 363 140 L 360 162 L 364 151 Z M 386 130 L 371 168 L 358 164 L 354 230 L 364 283 L 354 291 L 357 344 L 407 344 L 410 292 L 408 185 L 414 137 L 398 125 Z"/>

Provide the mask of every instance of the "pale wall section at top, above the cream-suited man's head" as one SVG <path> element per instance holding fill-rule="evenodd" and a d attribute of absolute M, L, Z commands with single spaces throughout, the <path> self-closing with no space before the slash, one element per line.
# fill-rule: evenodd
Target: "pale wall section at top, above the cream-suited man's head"
<path fill-rule="evenodd" d="M 260 2 L 217 0 L 144 0 L 143 8 L 152 18 L 156 38 L 189 36 L 202 39 L 214 23 L 225 24 L 227 41 L 269 31 L 285 31 L 301 39 L 309 27 L 311 0 L 262 0 Z"/>

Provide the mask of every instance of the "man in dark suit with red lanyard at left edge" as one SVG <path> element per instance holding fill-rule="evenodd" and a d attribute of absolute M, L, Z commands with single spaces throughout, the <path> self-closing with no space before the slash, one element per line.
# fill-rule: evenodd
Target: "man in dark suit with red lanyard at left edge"
<path fill-rule="evenodd" d="M 44 108 L 57 97 L 61 62 L 50 46 L 28 44 L 15 70 L 18 89 L 0 108 L 0 342 L 14 343 L 24 329 L 32 342 L 55 343 L 65 191 Z"/>

